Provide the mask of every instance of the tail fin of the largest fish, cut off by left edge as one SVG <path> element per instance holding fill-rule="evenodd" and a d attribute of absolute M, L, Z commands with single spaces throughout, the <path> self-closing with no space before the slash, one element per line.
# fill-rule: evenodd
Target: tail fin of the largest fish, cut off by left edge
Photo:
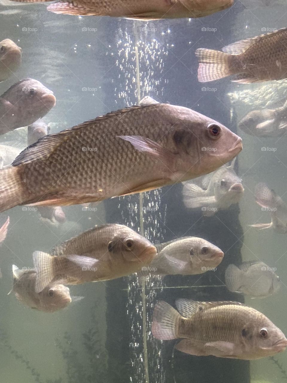
<path fill-rule="evenodd" d="M 21 180 L 13 166 L 0 169 L 0 212 L 22 203 Z"/>

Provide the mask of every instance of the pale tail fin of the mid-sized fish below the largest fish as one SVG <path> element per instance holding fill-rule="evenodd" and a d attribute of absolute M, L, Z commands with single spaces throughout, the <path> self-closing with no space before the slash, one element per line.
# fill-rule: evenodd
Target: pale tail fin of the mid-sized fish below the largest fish
<path fill-rule="evenodd" d="M 53 255 L 42 251 L 34 251 L 33 263 L 36 270 L 35 291 L 40 293 L 54 278 Z"/>

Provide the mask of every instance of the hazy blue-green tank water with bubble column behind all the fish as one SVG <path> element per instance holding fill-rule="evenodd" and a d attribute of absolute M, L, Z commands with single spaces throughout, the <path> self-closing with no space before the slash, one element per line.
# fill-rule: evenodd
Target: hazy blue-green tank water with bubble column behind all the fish
<path fill-rule="evenodd" d="M 287 201 L 285 137 L 258 139 L 237 132 L 238 119 L 254 105 L 286 98 L 285 82 L 238 85 L 229 79 L 197 81 L 199 47 L 221 49 L 234 41 L 286 26 L 286 6 L 237 1 L 229 10 L 202 19 L 140 22 L 123 18 L 55 15 L 47 4 L 0 0 L 0 40 L 10 38 L 23 50 L 16 76 L 0 83 L 0 94 L 26 77 L 53 90 L 56 106 L 44 117 L 51 133 L 136 104 L 150 95 L 160 102 L 199 111 L 243 138 L 236 170 L 245 195 L 239 206 L 206 218 L 184 208 L 182 185 L 97 203 L 94 210 L 64 207 L 67 222 L 53 226 L 36 211 L 17 206 L 0 249 L 0 381 L 7 383 L 259 383 L 287 380 L 286 354 L 252 362 L 192 357 L 173 350 L 173 342 L 153 339 L 152 309 L 158 299 L 239 300 L 224 286 L 224 270 L 234 260 L 259 259 L 277 268 L 276 295 L 245 303 L 262 311 L 283 332 L 286 325 L 286 237 L 258 232 L 248 225 L 269 222 L 254 201 L 254 187 L 267 182 Z M 255 5 L 254 5 L 255 4 Z M 264 5 L 264 4 L 263 4 Z M 251 7 L 252 6 L 252 7 Z M 248 8 L 246 8 L 248 7 Z M 107 134 L 108 139 L 108 134 Z M 1 141 L 26 140 L 26 128 Z M 264 152 L 262 147 L 276 147 Z M 147 209 L 147 208 L 150 209 Z M 147 277 L 72 286 L 79 302 L 54 314 L 24 308 L 14 295 L 11 265 L 32 267 L 34 250 L 49 250 L 95 224 L 121 223 L 155 243 L 176 237 L 204 237 L 225 252 L 216 272 L 198 276 Z"/>

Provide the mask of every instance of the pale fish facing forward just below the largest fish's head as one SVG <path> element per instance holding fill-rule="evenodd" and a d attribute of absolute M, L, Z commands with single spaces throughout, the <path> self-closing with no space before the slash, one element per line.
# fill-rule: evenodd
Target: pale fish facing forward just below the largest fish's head
<path fill-rule="evenodd" d="M 235 160 L 230 166 L 222 166 L 205 176 L 202 182 L 206 190 L 195 183 L 185 182 L 183 202 L 187 208 L 201 208 L 204 216 L 212 216 L 220 210 L 227 210 L 238 203 L 244 193 L 242 180 L 234 171 Z"/>

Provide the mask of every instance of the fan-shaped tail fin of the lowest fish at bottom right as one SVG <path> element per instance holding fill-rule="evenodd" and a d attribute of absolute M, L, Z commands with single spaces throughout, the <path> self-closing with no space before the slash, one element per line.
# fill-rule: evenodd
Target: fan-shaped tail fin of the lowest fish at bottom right
<path fill-rule="evenodd" d="M 161 340 L 177 339 L 181 315 L 170 304 L 160 301 L 153 310 L 152 334 Z"/>

